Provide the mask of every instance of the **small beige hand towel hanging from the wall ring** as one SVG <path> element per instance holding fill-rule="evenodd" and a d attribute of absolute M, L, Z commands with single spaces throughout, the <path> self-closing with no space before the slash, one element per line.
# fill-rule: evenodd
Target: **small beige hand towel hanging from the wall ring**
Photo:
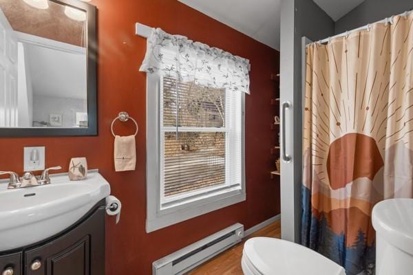
<path fill-rule="evenodd" d="M 134 135 L 115 136 L 114 159 L 116 172 L 135 170 L 136 146 Z"/>

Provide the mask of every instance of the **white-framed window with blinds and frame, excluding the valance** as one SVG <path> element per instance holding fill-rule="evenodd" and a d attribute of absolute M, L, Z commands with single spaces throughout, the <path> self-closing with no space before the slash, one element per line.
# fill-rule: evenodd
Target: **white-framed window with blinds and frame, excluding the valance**
<path fill-rule="evenodd" d="M 147 89 L 147 232 L 244 201 L 244 93 L 156 75 Z"/>

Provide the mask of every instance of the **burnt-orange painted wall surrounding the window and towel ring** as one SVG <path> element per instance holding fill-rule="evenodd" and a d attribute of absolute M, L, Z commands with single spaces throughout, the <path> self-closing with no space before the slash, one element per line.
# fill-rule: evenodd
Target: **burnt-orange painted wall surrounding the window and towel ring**
<path fill-rule="evenodd" d="M 151 274 L 151 263 L 189 243 L 240 222 L 246 228 L 279 213 L 279 181 L 271 180 L 276 140 L 271 131 L 275 109 L 271 106 L 275 84 L 270 74 L 279 72 L 279 52 L 176 0 L 94 0 L 98 7 L 98 126 L 96 137 L 46 137 L 0 139 L 1 170 L 23 169 L 23 146 L 45 145 L 46 165 L 62 165 L 71 157 L 85 156 L 89 168 L 99 168 L 122 203 L 120 223 L 107 219 L 107 274 Z M 258 16 L 258 15 L 257 15 Z M 251 96 L 246 96 L 247 200 L 189 221 L 147 234 L 145 232 L 145 83 L 138 72 L 146 41 L 134 35 L 134 23 L 182 34 L 194 41 L 220 47 L 251 61 Z M 110 123 L 119 111 L 129 111 L 138 121 L 136 170 L 115 173 Z M 119 133 L 133 127 L 116 126 Z"/>

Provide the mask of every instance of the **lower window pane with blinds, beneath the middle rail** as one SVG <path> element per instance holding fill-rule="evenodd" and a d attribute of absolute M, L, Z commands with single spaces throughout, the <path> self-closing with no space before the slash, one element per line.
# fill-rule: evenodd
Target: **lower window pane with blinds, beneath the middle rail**
<path fill-rule="evenodd" d="M 165 196 L 224 184 L 224 133 L 166 132 L 164 173 Z"/>

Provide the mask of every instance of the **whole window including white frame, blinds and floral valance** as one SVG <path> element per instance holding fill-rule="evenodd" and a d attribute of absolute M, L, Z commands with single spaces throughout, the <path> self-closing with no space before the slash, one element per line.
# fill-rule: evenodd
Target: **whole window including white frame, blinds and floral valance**
<path fill-rule="evenodd" d="M 192 42 L 182 36 L 171 42 L 179 49 L 174 51 L 166 45 L 175 37 L 165 35 L 148 39 L 151 52 L 142 65 L 147 72 L 147 232 L 246 198 L 245 93 L 237 89 L 248 85 L 236 81 L 242 66 L 235 66 L 235 59 L 233 67 L 208 56 L 197 59 L 209 50 L 185 54 Z M 153 45 L 162 47 L 155 52 Z M 150 58 L 158 63 L 148 65 Z M 180 59 L 185 64 L 177 64 Z M 232 81 L 226 79 L 230 76 Z"/>

